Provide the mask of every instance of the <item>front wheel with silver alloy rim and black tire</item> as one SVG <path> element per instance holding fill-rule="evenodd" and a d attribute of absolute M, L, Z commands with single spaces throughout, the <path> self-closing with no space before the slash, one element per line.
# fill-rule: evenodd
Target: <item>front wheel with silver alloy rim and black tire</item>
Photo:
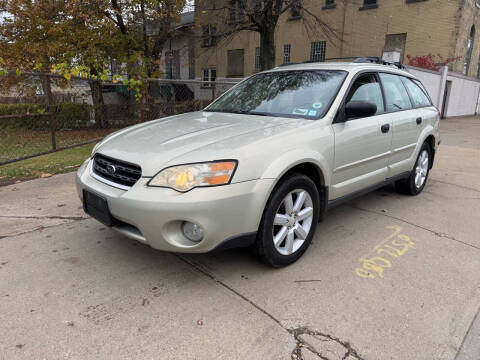
<path fill-rule="evenodd" d="M 297 261 L 312 242 L 319 210 L 315 183 L 303 174 L 286 177 L 273 190 L 263 212 L 254 244 L 257 256 L 276 268 Z"/>

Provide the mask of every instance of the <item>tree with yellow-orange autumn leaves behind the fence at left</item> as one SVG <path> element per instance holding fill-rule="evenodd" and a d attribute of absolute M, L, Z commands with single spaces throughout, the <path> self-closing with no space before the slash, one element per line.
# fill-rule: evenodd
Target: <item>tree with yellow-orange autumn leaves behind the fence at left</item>
<path fill-rule="evenodd" d="M 7 14 L 0 21 L 3 66 L 87 76 L 101 122 L 100 80 L 110 65 L 118 64 L 129 78 L 159 76 L 163 46 L 184 5 L 185 0 L 0 0 L 0 12 Z"/>

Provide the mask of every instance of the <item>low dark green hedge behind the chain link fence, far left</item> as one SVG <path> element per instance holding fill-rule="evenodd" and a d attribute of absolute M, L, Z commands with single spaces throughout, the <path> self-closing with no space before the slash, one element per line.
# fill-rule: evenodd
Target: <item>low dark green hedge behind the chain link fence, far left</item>
<path fill-rule="evenodd" d="M 88 104 L 63 103 L 55 107 L 55 127 L 57 130 L 81 129 L 88 125 L 91 106 Z M 45 104 L 0 104 L 0 116 L 25 115 L 12 119 L 0 119 L 2 128 L 49 129 L 50 117 Z M 38 114 L 38 115 L 37 115 Z M 32 116 L 34 115 L 34 116 Z"/>

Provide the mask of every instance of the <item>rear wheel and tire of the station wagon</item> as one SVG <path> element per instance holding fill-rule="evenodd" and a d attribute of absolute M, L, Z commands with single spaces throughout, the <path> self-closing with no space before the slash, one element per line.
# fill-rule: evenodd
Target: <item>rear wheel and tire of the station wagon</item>
<path fill-rule="evenodd" d="M 413 166 L 410 176 L 405 180 L 395 182 L 395 189 L 403 194 L 418 195 L 422 192 L 427 183 L 430 165 L 432 161 L 432 149 L 427 143 L 423 143 L 418 153 L 417 160 Z"/>

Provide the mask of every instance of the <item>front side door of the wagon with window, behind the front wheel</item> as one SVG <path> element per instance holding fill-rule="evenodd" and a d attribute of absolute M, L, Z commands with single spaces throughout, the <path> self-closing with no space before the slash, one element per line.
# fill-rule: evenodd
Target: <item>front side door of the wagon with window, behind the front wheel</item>
<path fill-rule="evenodd" d="M 347 119 L 344 109 L 350 101 L 373 102 L 377 112 L 370 117 Z M 329 196 L 331 200 L 384 181 L 392 141 L 392 122 L 385 114 L 378 74 L 358 75 L 343 104 L 332 125 L 335 156 Z"/>

